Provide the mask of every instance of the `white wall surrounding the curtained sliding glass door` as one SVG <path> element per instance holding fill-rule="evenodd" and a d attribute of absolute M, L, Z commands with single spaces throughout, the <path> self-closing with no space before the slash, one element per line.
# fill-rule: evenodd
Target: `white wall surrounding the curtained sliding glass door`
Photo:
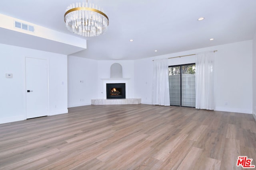
<path fill-rule="evenodd" d="M 214 50 L 218 50 L 215 53 L 216 110 L 252 113 L 251 40 L 136 60 L 136 97 L 142 98 L 143 104 L 151 104 L 153 59 Z M 169 65 L 188 63 L 195 63 L 195 56 L 169 59 Z"/>

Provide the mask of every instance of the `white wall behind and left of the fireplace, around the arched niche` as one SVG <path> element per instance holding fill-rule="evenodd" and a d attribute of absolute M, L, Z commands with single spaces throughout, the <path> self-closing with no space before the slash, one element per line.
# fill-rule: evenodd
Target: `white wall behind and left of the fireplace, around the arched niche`
<path fill-rule="evenodd" d="M 130 92 L 126 98 L 134 98 L 134 61 L 96 61 L 68 56 L 68 107 L 86 106 L 92 99 L 103 99 L 103 80 L 110 78 L 110 67 L 122 65 L 123 78 L 128 78 Z"/>

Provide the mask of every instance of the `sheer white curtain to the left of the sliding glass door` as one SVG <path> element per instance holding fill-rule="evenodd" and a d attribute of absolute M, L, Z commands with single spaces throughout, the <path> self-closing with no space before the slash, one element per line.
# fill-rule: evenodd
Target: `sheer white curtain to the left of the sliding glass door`
<path fill-rule="evenodd" d="M 152 104 L 170 106 L 168 59 L 155 60 L 153 64 Z"/>

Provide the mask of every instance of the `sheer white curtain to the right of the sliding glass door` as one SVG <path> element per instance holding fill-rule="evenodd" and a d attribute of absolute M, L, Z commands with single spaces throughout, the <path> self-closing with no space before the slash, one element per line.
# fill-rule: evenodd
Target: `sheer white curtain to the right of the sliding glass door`
<path fill-rule="evenodd" d="M 214 52 L 196 54 L 196 108 L 215 108 Z"/>

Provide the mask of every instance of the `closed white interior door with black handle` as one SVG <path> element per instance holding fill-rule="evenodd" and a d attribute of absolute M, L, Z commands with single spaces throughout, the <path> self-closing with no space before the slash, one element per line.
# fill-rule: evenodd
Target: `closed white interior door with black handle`
<path fill-rule="evenodd" d="M 48 61 L 26 57 L 26 118 L 48 115 Z"/>

